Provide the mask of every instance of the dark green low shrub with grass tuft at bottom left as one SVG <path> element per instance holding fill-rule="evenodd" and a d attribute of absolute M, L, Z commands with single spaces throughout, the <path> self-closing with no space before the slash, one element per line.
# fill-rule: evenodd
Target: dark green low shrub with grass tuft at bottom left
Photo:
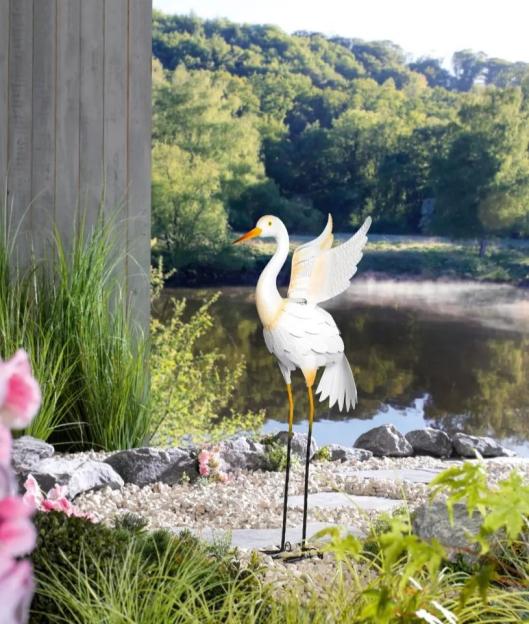
<path fill-rule="evenodd" d="M 261 582 L 189 532 L 39 514 L 32 623 L 265 622 Z"/>

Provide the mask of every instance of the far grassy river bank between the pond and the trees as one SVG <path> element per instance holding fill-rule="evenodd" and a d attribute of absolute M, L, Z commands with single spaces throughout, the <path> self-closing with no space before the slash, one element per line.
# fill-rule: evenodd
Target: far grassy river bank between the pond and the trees
<path fill-rule="evenodd" d="M 292 249 L 306 237 L 293 237 Z M 343 235 L 336 237 L 339 241 Z M 214 258 L 179 268 L 170 286 L 253 285 L 272 253 L 264 242 L 226 247 Z M 279 276 L 287 285 L 290 263 Z M 417 236 L 373 236 L 366 247 L 359 275 L 376 279 L 460 279 L 529 286 L 529 242 L 497 240 L 479 256 L 475 241 L 450 241 Z"/>

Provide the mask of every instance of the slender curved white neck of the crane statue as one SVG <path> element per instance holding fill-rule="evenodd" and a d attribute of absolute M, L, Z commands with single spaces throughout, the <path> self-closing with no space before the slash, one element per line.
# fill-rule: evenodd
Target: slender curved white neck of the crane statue
<path fill-rule="evenodd" d="M 277 321 L 285 301 L 277 290 L 277 276 L 289 252 L 288 232 L 283 224 L 275 240 L 276 250 L 259 277 L 255 297 L 259 318 L 267 328 L 272 327 Z"/>

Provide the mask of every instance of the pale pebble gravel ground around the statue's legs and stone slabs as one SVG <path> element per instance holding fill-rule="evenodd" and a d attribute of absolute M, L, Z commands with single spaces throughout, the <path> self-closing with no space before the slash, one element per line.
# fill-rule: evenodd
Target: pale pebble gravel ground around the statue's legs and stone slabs
<path fill-rule="evenodd" d="M 428 488 L 422 483 L 362 478 L 355 470 L 443 469 L 457 462 L 430 457 L 372 458 L 344 463 L 315 462 L 311 466 L 309 491 L 384 496 L 405 499 L 411 509 L 423 502 Z M 517 466 L 529 479 L 529 463 L 515 460 L 488 462 L 492 481 L 501 479 Z M 349 473 L 349 474 L 347 474 Z M 290 494 L 303 493 L 303 470 L 291 473 Z M 97 520 L 111 522 L 125 512 L 146 518 L 150 528 L 277 528 L 281 526 L 284 475 L 279 472 L 241 471 L 230 475 L 226 484 L 199 481 L 169 486 L 156 483 L 139 488 L 126 485 L 122 490 L 103 489 L 76 498 L 76 504 L 90 511 Z M 374 514 L 354 507 L 309 510 L 309 522 L 329 522 L 368 528 Z M 289 526 L 301 526 L 301 509 L 289 510 Z"/>

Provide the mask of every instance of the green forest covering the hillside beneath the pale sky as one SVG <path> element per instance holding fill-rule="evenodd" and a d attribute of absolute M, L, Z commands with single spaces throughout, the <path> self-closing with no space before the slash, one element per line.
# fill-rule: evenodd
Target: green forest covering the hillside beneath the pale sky
<path fill-rule="evenodd" d="M 154 14 L 154 232 L 175 268 L 368 214 L 383 233 L 529 234 L 529 65 Z"/>

